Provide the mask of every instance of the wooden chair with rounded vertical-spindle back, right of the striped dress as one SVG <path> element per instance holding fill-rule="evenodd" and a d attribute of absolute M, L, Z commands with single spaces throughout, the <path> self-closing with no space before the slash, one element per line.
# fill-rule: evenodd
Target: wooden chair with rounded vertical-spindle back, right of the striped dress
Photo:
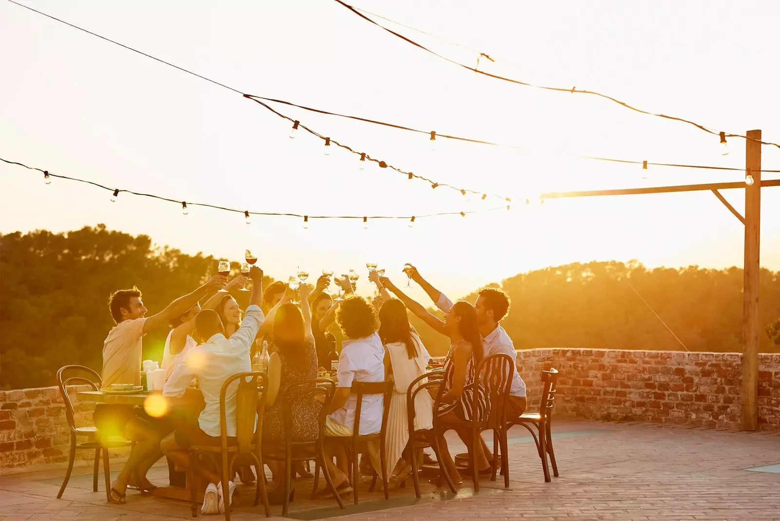
<path fill-rule="evenodd" d="M 471 407 L 471 421 L 466 422 L 471 429 L 471 442 L 473 445 L 479 442 L 483 431 L 494 431 L 494 439 L 501 445 L 502 470 L 504 470 L 504 487 L 509 488 L 509 457 L 507 456 L 506 440 L 506 402 L 509 391 L 512 388 L 512 376 L 514 365 L 512 357 L 508 354 L 492 354 L 484 357 L 474 372 L 474 382 L 466 385 L 463 390 L 475 389 Z M 480 408 L 480 400 L 477 399 L 479 390 L 484 393 L 484 410 Z M 463 428 L 463 421 L 438 421 L 436 431 L 443 434 L 450 429 Z M 477 455 L 474 446 L 469 447 L 469 459 L 474 481 L 474 491 L 480 490 L 480 471 L 477 469 Z M 493 458 L 493 472 L 495 473 L 496 460 Z"/>

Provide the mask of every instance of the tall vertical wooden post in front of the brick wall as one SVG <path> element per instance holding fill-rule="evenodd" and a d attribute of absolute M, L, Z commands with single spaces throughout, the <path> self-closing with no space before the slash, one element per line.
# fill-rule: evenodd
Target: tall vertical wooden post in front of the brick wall
<path fill-rule="evenodd" d="M 745 140 L 745 266 L 742 322 L 742 430 L 758 427 L 758 272 L 761 235 L 761 130 L 749 130 Z"/>

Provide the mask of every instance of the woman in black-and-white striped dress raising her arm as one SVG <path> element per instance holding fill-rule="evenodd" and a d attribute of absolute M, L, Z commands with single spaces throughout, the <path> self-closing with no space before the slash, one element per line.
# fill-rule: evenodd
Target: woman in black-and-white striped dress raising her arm
<path fill-rule="evenodd" d="M 484 454 L 480 443 L 470 443 L 470 430 L 466 422 L 471 421 L 473 403 L 477 403 L 477 414 L 484 413 L 485 396 L 482 389 L 474 389 L 474 371 L 482 360 L 482 336 L 477 322 L 477 312 L 468 302 L 458 301 L 447 312 L 444 320 L 431 315 L 422 305 L 403 294 L 395 284 L 386 277 L 382 277 L 381 284 L 392 291 L 415 315 L 422 319 L 428 326 L 450 340 L 449 352 L 444 365 L 445 378 L 443 395 L 441 396 L 439 410 L 435 411 L 442 421 L 463 422 L 462 429 L 456 429 L 458 435 L 466 441 L 466 446 L 476 447 L 477 464 L 482 468 L 489 468 L 490 462 Z M 464 389 L 466 388 L 466 389 Z M 444 433 L 438 438 L 441 458 L 444 459 L 447 472 L 452 481 L 462 482 L 455 462 L 447 449 L 447 441 Z"/>

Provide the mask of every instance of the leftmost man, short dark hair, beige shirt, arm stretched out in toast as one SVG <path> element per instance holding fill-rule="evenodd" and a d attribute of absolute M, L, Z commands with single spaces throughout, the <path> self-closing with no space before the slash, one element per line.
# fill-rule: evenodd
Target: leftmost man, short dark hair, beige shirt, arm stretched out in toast
<path fill-rule="evenodd" d="M 200 298 L 225 286 L 227 279 L 217 275 L 192 293 L 179 297 L 164 310 L 146 317 L 147 308 L 141 301 L 141 292 L 137 287 L 132 290 L 115 291 L 108 300 L 108 308 L 116 326 L 108 333 L 103 343 L 103 375 L 101 385 L 106 388 L 113 384 L 140 385 L 141 350 L 143 337 L 153 329 L 161 328 L 178 315 L 197 305 Z M 160 459 L 160 438 L 154 427 L 137 417 L 144 416 L 143 410 L 132 406 L 98 403 L 93 419 L 101 436 L 121 435 L 133 440 L 135 446 L 130 452 L 127 463 L 112 484 L 109 492 L 112 502 L 124 503 L 125 491 L 133 472 L 137 471 L 141 490 L 151 490 L 154 486 L 146 479 L 146 473 L 154 462 Z"/>

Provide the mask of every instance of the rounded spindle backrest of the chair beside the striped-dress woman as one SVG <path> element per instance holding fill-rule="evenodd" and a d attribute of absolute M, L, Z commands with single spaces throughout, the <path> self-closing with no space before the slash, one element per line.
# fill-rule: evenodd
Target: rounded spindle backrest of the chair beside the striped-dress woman
<path fill-rule="evenodd" d="M 472 418 L 480 428 L 491 429 L 503 426 L 506 421 L 506 402 L 512 389 L 512 357 L 508 354 L 491 354 L 484 357 L 474 372 L 474 399 Z M 478 391 L 484 393 L 484 412 L 480 411 Z"/>

